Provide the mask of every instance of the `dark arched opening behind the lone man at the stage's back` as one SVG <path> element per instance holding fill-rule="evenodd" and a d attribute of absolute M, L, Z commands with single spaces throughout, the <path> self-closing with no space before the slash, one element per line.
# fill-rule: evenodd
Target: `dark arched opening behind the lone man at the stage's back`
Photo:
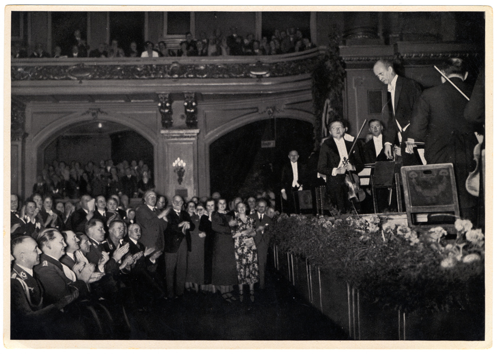
<path fill-rule="evenodd" d="M 211 193 L 225 198 L 247 197 L 258 190 L 279 188 L 281 167 L 288 152 L 297 150 L 305 161 L 313 150 L 311 123 L 275 118 L 256 121 L 229 132 L 209 148 Z M 270 146 L 274 141 L 273 147 Z"/>

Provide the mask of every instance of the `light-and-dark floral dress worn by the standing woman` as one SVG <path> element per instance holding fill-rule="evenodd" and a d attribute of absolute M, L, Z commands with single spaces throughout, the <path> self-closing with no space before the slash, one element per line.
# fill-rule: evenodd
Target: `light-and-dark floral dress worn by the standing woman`
<path fill-rule="evenodd" d="M 232 234 L 255 228 L 254 220 L 247 217 L 247 223 L 237 215 L 237 226 Z M 235 238 L 235 259 L 237 261 L 237 273 L 239 284 L 253 284 L 259 281 L 259 266 L 257 263 L 257 248 L 255 245 L 247 246 L 244 242 L 252 236 L 243 235 Z"/>

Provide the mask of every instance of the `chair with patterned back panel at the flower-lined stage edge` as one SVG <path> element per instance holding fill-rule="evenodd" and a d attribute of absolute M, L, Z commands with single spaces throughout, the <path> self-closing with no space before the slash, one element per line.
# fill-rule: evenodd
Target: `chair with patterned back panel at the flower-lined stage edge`
<path fill-rule="evenodd" d="M 401 175 L 409 226 L 442 226 L 455 233 L 459 202 L 452 163 L 404 166 Z"/>

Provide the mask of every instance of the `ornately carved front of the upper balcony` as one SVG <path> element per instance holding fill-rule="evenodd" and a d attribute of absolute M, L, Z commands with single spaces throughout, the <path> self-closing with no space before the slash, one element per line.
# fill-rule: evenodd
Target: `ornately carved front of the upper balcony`
<path fill-rule="evenodd" d="M 261 78 L 310 73 L 326 49 L 274 56 L 16 59 L 12 81 Z"/>

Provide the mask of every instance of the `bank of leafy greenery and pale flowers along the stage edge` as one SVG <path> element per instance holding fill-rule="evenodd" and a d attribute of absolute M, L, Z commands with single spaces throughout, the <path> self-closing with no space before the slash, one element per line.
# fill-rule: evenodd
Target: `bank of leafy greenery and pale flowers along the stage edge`
<path fill-rule="evenodd" d="M 382 217 L 384 218 L 384 217 Z M 267 230 L 278 249 L 327 269 L 372 302 L 403 311 L 448 311 L 484 302 L 484 235 L 458 220 L 457 239 L 377 215 L 280 216 Z"/>

